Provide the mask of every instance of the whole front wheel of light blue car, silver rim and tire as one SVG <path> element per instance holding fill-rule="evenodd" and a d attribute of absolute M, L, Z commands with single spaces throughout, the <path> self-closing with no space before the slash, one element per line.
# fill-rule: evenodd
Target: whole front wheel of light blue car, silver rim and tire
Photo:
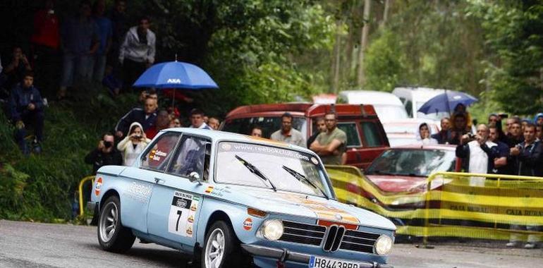
<path fill-rule="evenodd" d="M 202 250 L 202 268 L 236 267 L 238 239 L 231 227 L 224 221 L 216 221 L 206 233 Z M 236 252 L 239 254 L 239 252 Z"/>

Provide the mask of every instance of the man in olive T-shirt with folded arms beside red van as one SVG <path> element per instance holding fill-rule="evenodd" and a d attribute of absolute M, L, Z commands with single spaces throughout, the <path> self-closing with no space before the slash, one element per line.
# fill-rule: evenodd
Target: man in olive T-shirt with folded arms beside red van
<path fill-rule="evenodd" d="M 347 135 L 337 128 L 336 114 L 326 114 L 324 121 L 327 131 L 317 136 L 310 149 L 319 154 L 324 164 L 339 165 L 342 162 L 341 155 L 346 152 Z"/>

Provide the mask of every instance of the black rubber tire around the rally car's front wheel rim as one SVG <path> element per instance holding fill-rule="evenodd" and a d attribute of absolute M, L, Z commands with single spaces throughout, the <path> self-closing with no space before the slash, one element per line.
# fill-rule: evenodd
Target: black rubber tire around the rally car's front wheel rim
<path fill-rule="evenodd" d="M 208 258 L 207 255 L 210 251 L 214 252 L 213 250 L 216 249 L 212 245 L 212 241 L 216 240 L 214 238 L 216 238 L 217 232 L 221 233 L 224 236 L 224 243 L 222 245 L 224 248 L 222 248 L 222 250 L 219 250 L 222 256 L 220 264 L 218 266 L 212 266 L 210 263 L 210 261 L 212 261 L 212 257 Z M 230 224 L 226 223 L 225 221 L 215 221 L 205 234 L 205 243 L 204 248 L 202 249 L 202 258 L 200 259 L 200 262 L 202 262 L 202 268 L 240 267 L 240 263 L 237 262 L 239 260 L 238 257 L 240 257 L 241 253 L 239 249 L 240 245 L 238 238 L 236 237 L 236 233 L 233 232 Z"/>

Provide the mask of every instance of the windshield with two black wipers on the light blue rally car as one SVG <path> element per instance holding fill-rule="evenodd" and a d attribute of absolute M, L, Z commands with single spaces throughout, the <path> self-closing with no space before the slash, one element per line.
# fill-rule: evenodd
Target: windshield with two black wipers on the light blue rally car
<path fill-rule="evenodd" d="M 326 197 L 328 185 L 317 157 L 267 145 L 220 142 L 216 157 L 217 183 L 276 188 Z"/>

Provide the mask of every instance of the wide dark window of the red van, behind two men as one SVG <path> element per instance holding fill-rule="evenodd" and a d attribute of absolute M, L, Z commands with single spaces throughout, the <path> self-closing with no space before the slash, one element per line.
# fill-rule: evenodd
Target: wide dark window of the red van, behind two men
<path fill-rule="evenodd" d="M 292 127 L 299 130 L 305 137 L 307 120 L 303 117 L 294 117 Z M 281 116 L 255 116 L 247 118 L 228 119 L 221 130 L 250 135 L 252 128 L 262 128 L 262 138 L 269 138 L 271 133 L 281 129 Z"/>

